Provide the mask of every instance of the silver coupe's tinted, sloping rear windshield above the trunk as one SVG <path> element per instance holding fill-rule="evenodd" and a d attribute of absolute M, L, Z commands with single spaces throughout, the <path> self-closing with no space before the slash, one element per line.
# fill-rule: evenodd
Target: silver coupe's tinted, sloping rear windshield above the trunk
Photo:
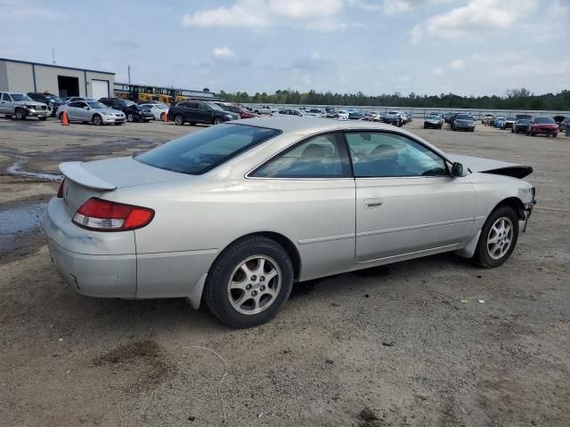
<path fill-rule="evenodd" d="M 248 125 L 212 126 L 167 142 L 134 159 L 167 171 L 199 175 L 280 133 L 276 129 Z"/>

